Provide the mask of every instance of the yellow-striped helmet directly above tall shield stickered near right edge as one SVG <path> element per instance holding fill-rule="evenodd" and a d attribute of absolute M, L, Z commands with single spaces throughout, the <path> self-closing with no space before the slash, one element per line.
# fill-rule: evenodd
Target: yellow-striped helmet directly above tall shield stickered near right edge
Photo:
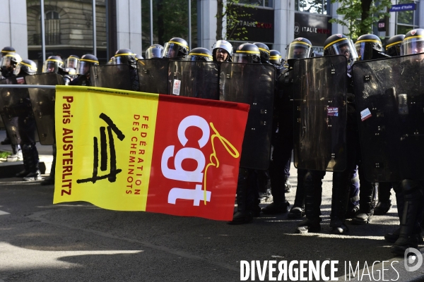
<path fill-rule="evenodd" d="M 324 56 L 331 55 L 344 55 L 350 62 L 358 59 L 352 40 L 339 33 L 331 35 L 324 42 Z"/>

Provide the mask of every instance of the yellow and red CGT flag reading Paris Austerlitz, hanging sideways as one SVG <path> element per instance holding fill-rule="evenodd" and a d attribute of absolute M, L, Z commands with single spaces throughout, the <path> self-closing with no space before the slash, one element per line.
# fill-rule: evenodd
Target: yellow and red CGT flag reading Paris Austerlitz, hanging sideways
<path fill-rule="evenodd" d="M 230 220 L 249 105 L 56 88 L 54 204 Z"/>

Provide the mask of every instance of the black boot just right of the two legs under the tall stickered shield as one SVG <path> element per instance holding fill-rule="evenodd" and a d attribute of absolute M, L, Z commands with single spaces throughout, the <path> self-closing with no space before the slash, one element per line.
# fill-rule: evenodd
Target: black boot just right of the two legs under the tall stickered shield
<path fill-rule="evenodd" d="M 367 224 L 371 222 L 374 214 L 375 187 L 370 182 L 361 183 L 359 196 L 359 212 L 352 219 L 353 224 Z"/>

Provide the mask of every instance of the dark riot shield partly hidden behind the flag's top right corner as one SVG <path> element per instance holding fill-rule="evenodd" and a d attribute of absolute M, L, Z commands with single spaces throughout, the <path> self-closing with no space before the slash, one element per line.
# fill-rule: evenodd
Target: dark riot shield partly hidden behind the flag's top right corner
<path fill-rule="evenodd" d="M 266 170 L 271 157 L 276 69 L 251 63 L 220 64 L 220 99 L 250 105 L 240 166 Z"/>

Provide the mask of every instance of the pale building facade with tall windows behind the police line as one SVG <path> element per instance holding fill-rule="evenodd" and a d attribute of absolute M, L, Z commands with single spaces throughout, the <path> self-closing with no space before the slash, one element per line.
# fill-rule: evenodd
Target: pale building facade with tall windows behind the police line
<path fill-rule="evenodd" d="M 189 29 L 185 28 L 184 22 L 189 22 L 188 15 L 182 13 L 178 21 L 172 18 L 175 17 L 173 15 L 165 18 L 163 14 L 175 10 L 181 12 L 186 8 L 184 5 L 188 6 L 187 1 L 182 1 L 176 4 L 171 0 L 153 0 L 153 20 L 150 20 L 151 7 L 148 0 L 96 0 L 95 53 L 100 62 L 105 63 L 114 51 L 123 48 L 144 55 L 151 42 L 150 23 L 155 27 L 153 44 L 165 44 L 165 37 L 171 35 L 188 41 Z M 391 1 L 393 4 L 414 3 L 416 10 L 391 12 L 384 25 L 385 31 L 375 27 L 375 35 L 389 38 L 413 28 L 424 27 L 424 3 L 413 0 Z M 192 47 L 211 49 L 217 37 L 217 0 L 190 0 L 189 3 L 194 19 L 191 32 L 195 42 L 192 42 Z M 82 56 L 94 53 L 93 0 L 45 0 L 44 5 L 46 57 L 60 55 L 65 59 L 71 54 Z M 24 59 L 32 59 L 41 66 L 40 0 L 0 0 L 0 6 L 3 11 L 0 19 L 0 47 L 15 47 Z M 283 56 L 285 48 L 293 39 L 305 37 L 312 42 L 315 53 L 322 54 L 324 41 L 329 35 L 348 33 L 346 27 L 329 23 L 331 18 L 342 19 L 336 13 L 337 8 L 338 4 L 331 4 L 331 0 L 240 0 L 240 4 L 234 8 L 239 15 L 237 20 L 240 20 L 237 28 L 224 17 L 221 33 L 223 38 L 228 35 L 228 41 L 234 47 L 243 42 L 263 42 L 270 49 L 281 51 Z M 170 29 L 170 26 L 174 29 Z M 242 32 L 238 27 L 242 27 Z"/>

